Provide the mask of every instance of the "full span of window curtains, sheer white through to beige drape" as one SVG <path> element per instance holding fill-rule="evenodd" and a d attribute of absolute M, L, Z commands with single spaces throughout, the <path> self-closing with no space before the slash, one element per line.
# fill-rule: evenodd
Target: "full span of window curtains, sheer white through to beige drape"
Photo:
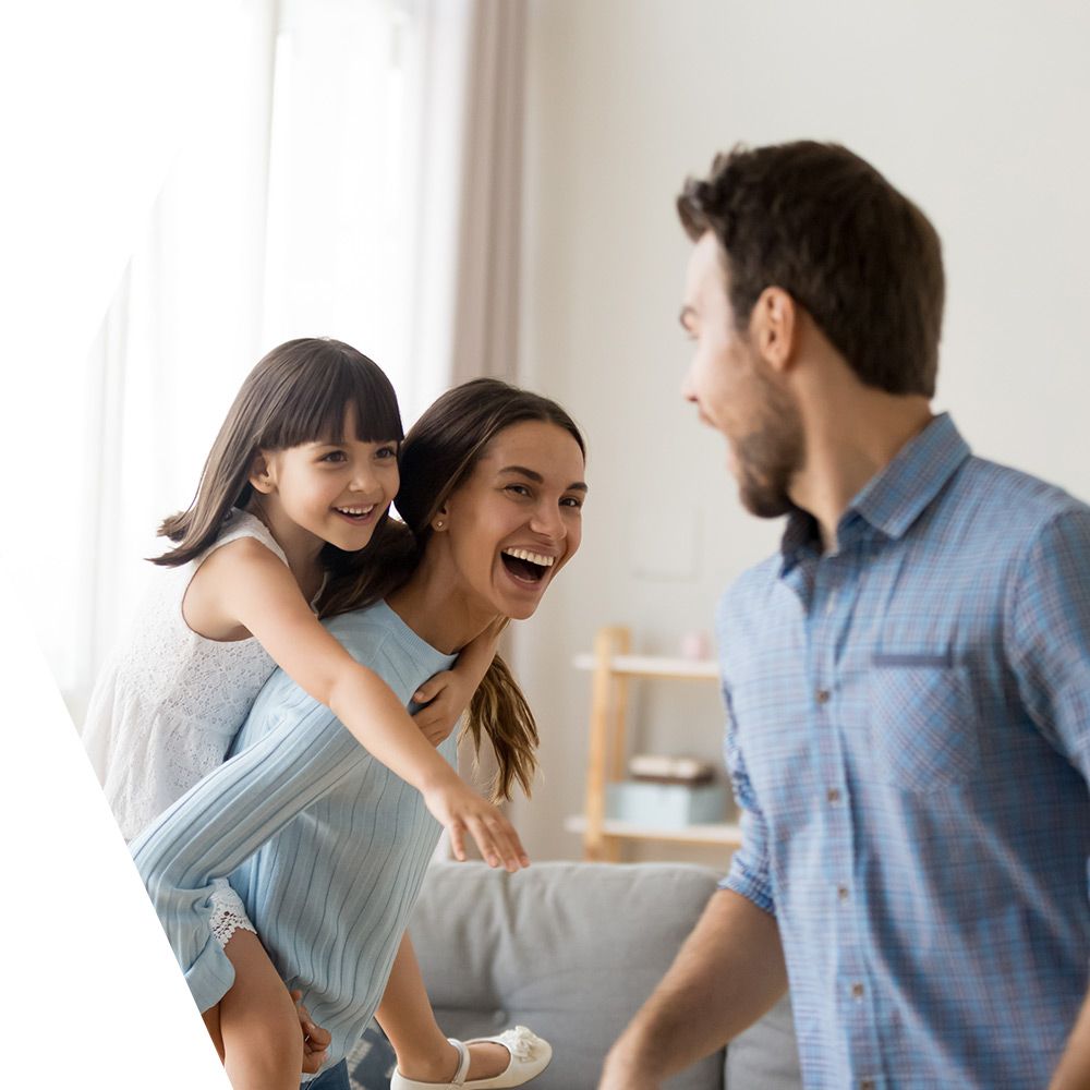
<path fill-rule="evenodd" d="M 517 267 L 517 231 L 497 247 L 510 207 L 497 220 L 484 179 L 497 162 L 498 189 L 518 184 L 521 117 L 497 131 L 489 111 L 507 96 L 514 120 L 521 39 L 488 28 L 520 8 L 240 0 L 209 26 L 215 48 L 193 57 L 201 93 L 146 234 L 87 365 L 63 384 L 66 441 L 47 457 L 72 532 L 24 554 L 37 634 L 77 722 L 153 572 L 142 557 L 161 548 L 159 520 L 190 501 L 265 351 L 304 335 L 355 344 L 390 375 L 407 423 L 456 378 L 511 373 L 513 327 L 498 366 L 480 330 L 482 315 L 514 311 L 504 292 L 516 281 L 496 269 Z M 482 85 L 497 65 L 507 85 Z"/>

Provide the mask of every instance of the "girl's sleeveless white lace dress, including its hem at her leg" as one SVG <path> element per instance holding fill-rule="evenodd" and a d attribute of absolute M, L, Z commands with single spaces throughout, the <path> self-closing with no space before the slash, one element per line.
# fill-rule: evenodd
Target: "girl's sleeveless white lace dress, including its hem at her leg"
<path fill-rule="evenodd" d="M 240 537 L 257 538 L 288 562 L 259 519 L 232 510 L 201 556 L 159 569 L 129 639 L 92 694 L 83 744 L 126 840 L 223 763 L 276 667 L 257 640 L 207 640 L 182 617 L 182 600 L 197 568 Z M 213 903 L 213 932 L 223 945 L 238 928 L 254 930 L 226 880 Z"/>

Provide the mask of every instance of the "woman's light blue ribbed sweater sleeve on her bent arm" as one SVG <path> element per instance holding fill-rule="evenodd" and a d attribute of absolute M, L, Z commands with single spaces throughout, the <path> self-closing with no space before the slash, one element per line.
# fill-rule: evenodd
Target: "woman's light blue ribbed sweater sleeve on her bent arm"
<path fill-rule="evenodd" d="M 307 698 L 253 746 L 213 771 L 149 825 L 133 859 L 201 1010 L 234 970 L 209 921 L 209 895 L 288 822 L 327 795 L 366 752 Z"/>

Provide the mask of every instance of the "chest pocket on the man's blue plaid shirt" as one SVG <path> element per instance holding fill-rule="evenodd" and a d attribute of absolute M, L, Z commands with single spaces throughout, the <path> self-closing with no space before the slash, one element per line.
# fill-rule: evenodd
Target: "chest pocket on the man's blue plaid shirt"
<path fill-rule="evenodd" d="M 980 766 L 980 723 L 969 668 L 940 655 L 875 654 L 870 675 L 874 773 L 930 794 L 970 780 Z"/>

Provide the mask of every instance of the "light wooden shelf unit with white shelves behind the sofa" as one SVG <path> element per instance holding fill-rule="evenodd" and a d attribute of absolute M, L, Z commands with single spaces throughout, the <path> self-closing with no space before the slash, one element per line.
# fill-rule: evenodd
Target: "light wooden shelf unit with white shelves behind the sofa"
<path fill-rule="evenodd" d="M 577 669 L 590 670 L 591 722 L 586 761 L 586 802 L 582 814 L 569 818 L 565 828 L 582 833 L 583 858 L 616 862 L 625 840 L 662 840 L 675 844 L 725 845 L 738 847 L 737 825 L 689 825 L 657 828 L 634 822 L 606 819 L 606 786 L 625 777 L 627 752 L 629 682 L 632 678 L 665 678 L 676 681 L 716 681 L 718 669 L 712 661 L 633 655 L 627 628 L 609 626 L 598 630 L 594 654 L 577 655 Z"/>

